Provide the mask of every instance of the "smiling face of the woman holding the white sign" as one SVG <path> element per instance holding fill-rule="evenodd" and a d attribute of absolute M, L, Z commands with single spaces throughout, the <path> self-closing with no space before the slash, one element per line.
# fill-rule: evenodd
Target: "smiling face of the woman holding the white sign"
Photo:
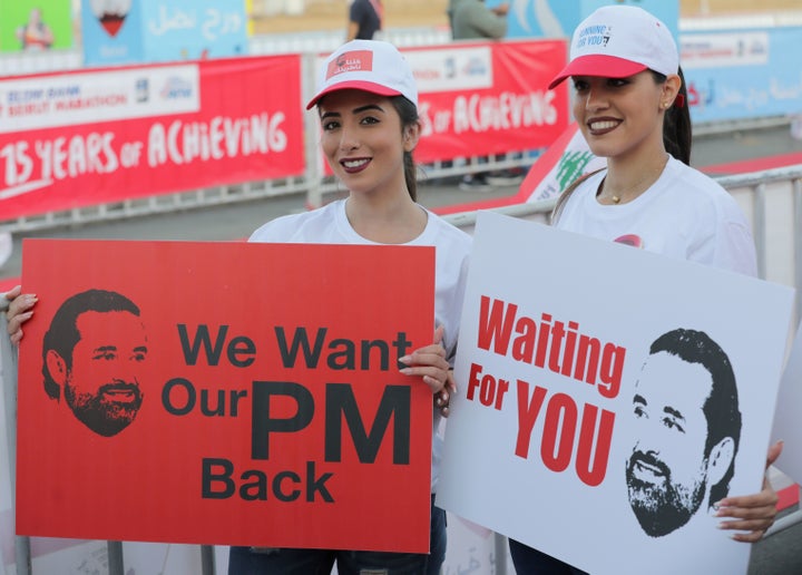
<path fill-rule="evenodd" d="M 678 80 L 669 78 L 658 84 L 649 70 L 619 79 L 573 77 L 574 118 L 590 150 L 608 158 L 663 152 L 662 109 Z"/>

